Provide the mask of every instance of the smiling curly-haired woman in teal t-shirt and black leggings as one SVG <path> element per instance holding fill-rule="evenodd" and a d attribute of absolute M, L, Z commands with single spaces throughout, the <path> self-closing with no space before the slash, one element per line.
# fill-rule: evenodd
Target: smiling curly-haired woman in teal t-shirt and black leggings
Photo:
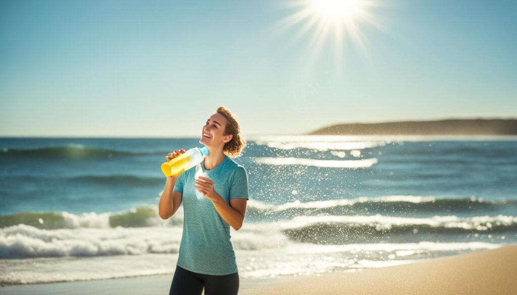
<path fill-rule="evenodd" d="M 183 201 L 183 236 L 170 295 L 237 294 L 239 274 L 230 241 L 230 226 L 238 230 L 248 200 L 246 169 L 229 157 L 238 157 L 246 146 L 234 115 L 220 106 L 201 131 L 200 143 L 208 148 L 201 163 L 204 174 L 194 179 L 195 166 L 167 177 L 159 212 L 168 219 Z M 175 158 L 185 150 L 166 157 Z M 204 198 L 198 199 L 195 190 Z"/>

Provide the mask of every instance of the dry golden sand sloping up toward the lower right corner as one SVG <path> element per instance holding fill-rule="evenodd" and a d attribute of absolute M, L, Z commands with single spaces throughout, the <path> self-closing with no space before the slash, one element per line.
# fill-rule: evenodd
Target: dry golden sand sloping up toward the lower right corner
<path fill-rule="evenodd" d="M 298 277 L 252 294 L 516 294 L 515 273 L 517 245 L 510 245 L 408 265 Z"/>

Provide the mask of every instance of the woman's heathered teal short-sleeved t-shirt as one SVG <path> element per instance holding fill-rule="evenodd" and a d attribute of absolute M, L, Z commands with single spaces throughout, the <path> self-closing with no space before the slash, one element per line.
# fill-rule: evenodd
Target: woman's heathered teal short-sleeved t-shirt
<path fill-rule="evenodd" d="M 248 175 L 244 166 L 225 156 L 211 170 L 200 164 L 203 176 L 214 181 L 214 189 L 230 205 L 230 199 L 248 197 Z M 199 169 L 199 168 L 198 168 Z M 237 272 L 235 252 L 230 241 L 230 225 L 208 198 L 194 187 L 196 166 L 181 173 L 174 190 L 180 192 L 184 209 L 183 236 L 177 265 L 196 273 L 226 275 Z M 201 197 L 200 197 L 201 196 Z"/>

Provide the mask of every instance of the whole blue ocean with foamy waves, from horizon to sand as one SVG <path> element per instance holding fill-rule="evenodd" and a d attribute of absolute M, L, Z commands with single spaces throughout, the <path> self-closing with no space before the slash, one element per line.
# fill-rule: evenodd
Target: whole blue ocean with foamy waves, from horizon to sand
<path fill-rule="evenodd" d="M 240 277 L 411 263 L 517 243 L 515 136 L 255 136 Z M 173 273 L 166 154 L 199 138 L 0 138 L 0 284 Z M 172 277 L 171 277 L 172 278 Z"/>

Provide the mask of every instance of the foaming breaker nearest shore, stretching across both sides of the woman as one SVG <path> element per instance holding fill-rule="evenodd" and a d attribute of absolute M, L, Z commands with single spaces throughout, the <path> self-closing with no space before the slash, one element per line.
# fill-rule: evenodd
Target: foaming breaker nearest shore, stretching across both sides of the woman
<path fill-rule="evenodd" d="M 103 216 L 107 219 L 107 214 Z M 180 219 L 183 220 L 183 218 Z M 97 218 L 90 220 L 88 224 L 85 222 L 85 220 L 76 221 L 75 228 L 52 230 L 25 224 L 2 228 L 0 229 L 0 258 L 177 253 L 183 233 L 182 226 L 161 224 L 149 227 L 109 227 L 107 222 L 101 222 Z M 346 247 L 360 248 L 361 243 L 378 242 L 383 243 L 383 247 L 398 240 L 408 243 L 410 242 L 408 235 L 416 238 L 417 242 L 425 242 L 442 239 L 444 235 L 504 235 L 506 232 L 513 233 L 516 230 L 517 218 L 506 215 L 472 218 L 458 216 L 400 218 L 380 214 L 324 215 L 296 216 L 291 220 L 269 223 L 248 222 L 238 232 L 232 231 L 231 236 L 236 250 L 278 249 L 284 246 L 295 246 L 293 243 L 346 245 Z M 399 239 L 402 237 L 403 239 Z M 458 245 L 464 247 L 465 243 L 458 243 Z M 330 251 L 330 248 L 327 250 Z M 339 248 L 339 251 L 343 250 Z M 433 251 L 439 251 L 439 249 Z"/>

